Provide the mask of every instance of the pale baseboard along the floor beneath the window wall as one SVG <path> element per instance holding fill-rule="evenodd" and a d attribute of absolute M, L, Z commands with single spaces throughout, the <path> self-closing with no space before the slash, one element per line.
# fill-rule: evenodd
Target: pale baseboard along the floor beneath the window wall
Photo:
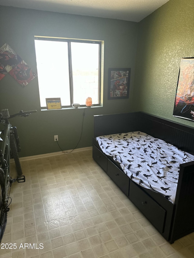
<path fill-rule="evenodd" d="M 75 150 L 67 150 L 67 151 L 63 151 L 63 152 L 52 152 L 52 153 L 45 153 L 45 154 L 40 154 L 40 155 L 34 155 L 34 156 L 28 156 L 28 157 L 22 157 L 19 158 L 19 160 L 22 161 L 26 161 L 26 160 L 32 160 L 32 159 L 36 159 L 36 158 L 46 158 L 46 157 L 51 157 L 51 156 L 57 156 L 57 155 L 68 155 L 68 152 L 71 153 L 75 153 L 75 152 L 82 152 L 82 151 L 86 151 L 86 150 L 91 150 L 92 147 L 84 147 L 84 148 L 79 148 L 79 149 L 75 149 Z M 10 163 L 14 163 L 14 159 L 10 159 Z"/>

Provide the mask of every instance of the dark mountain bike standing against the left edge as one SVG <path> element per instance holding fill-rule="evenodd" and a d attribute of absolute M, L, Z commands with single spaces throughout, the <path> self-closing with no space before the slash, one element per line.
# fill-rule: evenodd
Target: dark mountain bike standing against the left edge
<path fill-rule="evenodd" d="M 4 125 L 4 129 L 0 131 L 0 243 L 5 231 L 7 223 L 7 212 L 9 211 L 9 197 L 12 183 L 25 182 L 25 176 L 22 175 L 22 168 L 20 165 L 18 152 L 21 151 L 17 128 L 12 126 L 9 122 L 10 118 L 15 116 L 29 116 L 31 113 L 36 113 L 37 110 L 25 111 L 22 110 L 14 115 L 9 115 L 8 109 L 3 109 L 0 113 L 0 122 Z M 12 179 L 10 176 L 10 155 L 14 158 L 17 178 Z"/>

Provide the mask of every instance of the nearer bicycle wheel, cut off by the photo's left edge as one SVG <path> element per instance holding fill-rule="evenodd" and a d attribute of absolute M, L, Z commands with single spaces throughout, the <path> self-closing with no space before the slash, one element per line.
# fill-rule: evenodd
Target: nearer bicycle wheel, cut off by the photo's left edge
<path fill-rule="evenodd" d="M 5 174 L 0 168 L 0 243 L 5 231 L 5 226 L 7 224 L 7 212 L 5 212 L 4 200 L 5 196 Z"/>

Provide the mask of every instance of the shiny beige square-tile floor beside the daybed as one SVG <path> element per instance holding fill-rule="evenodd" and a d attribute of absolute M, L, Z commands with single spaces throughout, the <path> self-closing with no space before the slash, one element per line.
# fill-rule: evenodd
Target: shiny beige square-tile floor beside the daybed
<path fill-rule="evenodd" d="M 0 257 L 194 257 L 194 233 L 169 244 L 92 150 L 21 163 L 26 182 L 12 185 Z"/>

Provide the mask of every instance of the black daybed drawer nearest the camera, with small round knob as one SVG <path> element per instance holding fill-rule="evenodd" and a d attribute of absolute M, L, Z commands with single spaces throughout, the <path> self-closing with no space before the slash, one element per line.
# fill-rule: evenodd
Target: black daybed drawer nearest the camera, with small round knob
<path fill-rule="evenodd" d="M 133 181 L 130 181 L 129 199 L 147 217 L 152 225 L 160 233 L 163 233 L 166 211 Z"/>

